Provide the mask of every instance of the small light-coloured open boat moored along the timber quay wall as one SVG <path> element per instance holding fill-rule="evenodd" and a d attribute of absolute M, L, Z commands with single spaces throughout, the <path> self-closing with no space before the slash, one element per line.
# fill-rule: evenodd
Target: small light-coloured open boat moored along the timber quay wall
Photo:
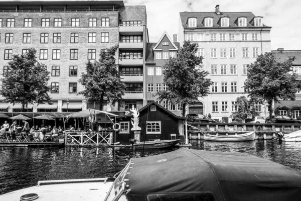
<path fill-rule="evenodd" d="M 255 139 L 255 132 L 239 134 L 239 135 L 204 135 L 204 140 L 207 141 L 220 141 L 220 142 L 237 142 L 237 141 L 252 141 Z"/>

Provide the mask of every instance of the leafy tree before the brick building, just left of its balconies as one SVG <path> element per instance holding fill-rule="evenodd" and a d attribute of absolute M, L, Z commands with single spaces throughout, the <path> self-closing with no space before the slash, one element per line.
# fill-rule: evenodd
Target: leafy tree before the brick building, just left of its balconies
<path fill-rule="evenodd" d="M 99 61 L 86 63 L 86 72 L 83 72 L 79 82 L 84 86 L 82 94 L 87 103 L 99 103 L 99 110 L 102 110 L 104 100 L 113 106 L 119 103 L 125 91 L 125 84 L 121 81 L 118 65 L 115 63 L 115 52 L 118 46 L 101 51 Z"/>

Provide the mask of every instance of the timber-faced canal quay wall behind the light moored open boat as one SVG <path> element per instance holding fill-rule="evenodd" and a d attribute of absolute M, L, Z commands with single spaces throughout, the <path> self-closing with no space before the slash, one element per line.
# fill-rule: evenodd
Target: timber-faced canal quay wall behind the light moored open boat
<path fill-rule="evenodd" d="M 301 130 L 301 124 L 237 124 L 237 123 L 189 123 L 189 139 L 203 139 L 204 134 L 238 135 L 255 131 L 256 140 L 271 140 L 277 133 L 288 134 Z"/>

